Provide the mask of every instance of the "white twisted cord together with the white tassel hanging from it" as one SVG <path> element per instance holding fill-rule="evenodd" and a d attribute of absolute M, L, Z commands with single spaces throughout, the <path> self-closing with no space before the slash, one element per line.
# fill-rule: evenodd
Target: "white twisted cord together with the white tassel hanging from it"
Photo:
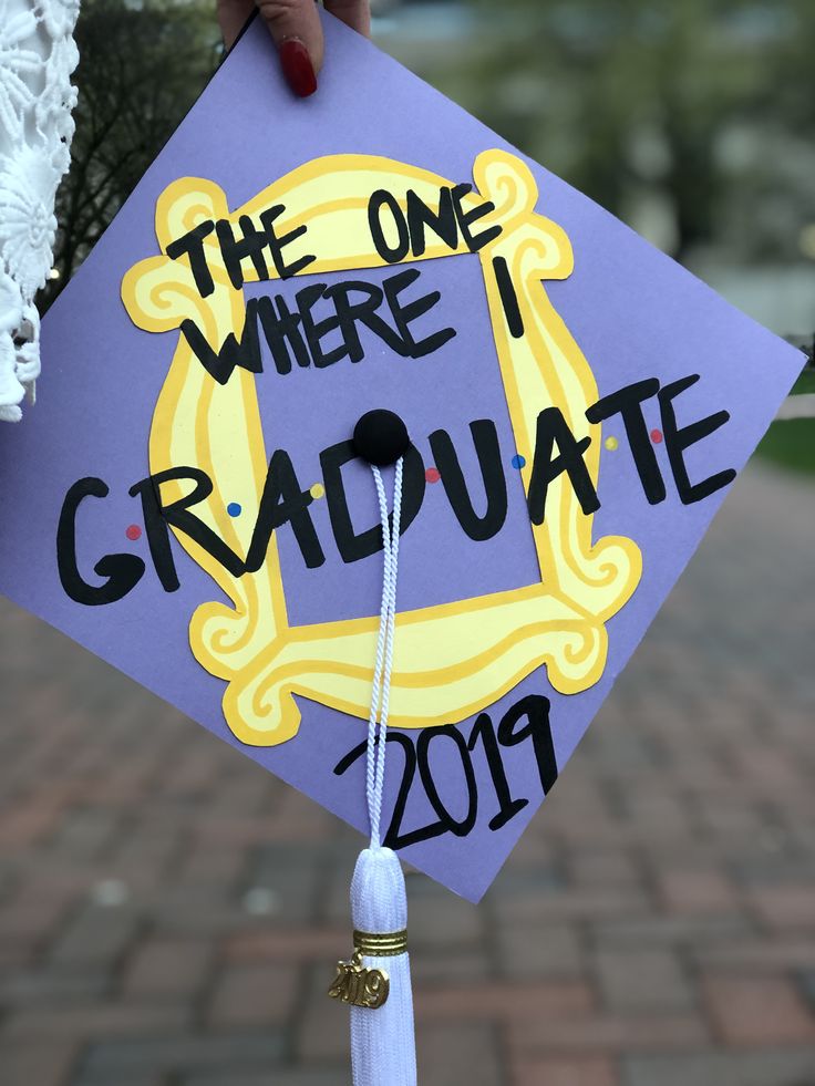
<path fill-rule="evenodd" d="M 380 826 L 396 616 L 402 461 L 396 463 L 391 523 L 388 517 L 388 499 L 382 476 L 376 467 L 372 467 L 372 472 L 382 519 L 384 576 L 368 726 L 365 790 L 371 844 L 369 848 L 363 849 L 357 860 L 351 882 L 351 913 L 355 929 L 354 942 L 363 952 L 362 964 L 365 969 L 386 973 L 390 991 L 382 1006 L 351 1007 L 351 1063 L 354 1086 L 415 1086 L 416 1051 L 407 951 L 401 949 L 401 952 L 391 954 L 365 953 L 364 938 L 365 934 L 396 937 L 392 940 L 394 947 L 403 948 L 404 938 L 400 937 L 407 927 L 404 875 L 396 854 L 382 846 Z M 375 941 L 374 939 L 373 942 Z M 373 948 L 369 947 L 369 949 Z"/>

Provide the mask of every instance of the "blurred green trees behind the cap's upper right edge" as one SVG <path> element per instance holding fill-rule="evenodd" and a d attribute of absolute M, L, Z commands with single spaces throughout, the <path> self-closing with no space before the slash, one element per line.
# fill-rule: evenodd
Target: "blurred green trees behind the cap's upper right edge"
<path fill-rule="evenodd" d="M 476 40 L 431 82 L 623 218 L 658 201 L 679 257 L 797 258 L 815 220 L 812 0 L 468 6 Z"/>

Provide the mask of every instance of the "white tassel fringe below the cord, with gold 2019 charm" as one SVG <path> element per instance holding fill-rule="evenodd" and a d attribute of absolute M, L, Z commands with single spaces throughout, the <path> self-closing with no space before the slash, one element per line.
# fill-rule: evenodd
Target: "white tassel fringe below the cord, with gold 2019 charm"
<path fill-rule="evenodd" d="M 360 852 L 351 882 L 351 916 L 358 932 L 395 935 L 407 927 L 404 876 L 390 848 Z M 364 944 L 364 941 L 363 941 Z M 351 1066 L 354 1086 L 415 1086 L 416 1047 L 407 951 L 363 954 L 367 969 L 388 974 L 385 1003 L 351 1007 Z"/>

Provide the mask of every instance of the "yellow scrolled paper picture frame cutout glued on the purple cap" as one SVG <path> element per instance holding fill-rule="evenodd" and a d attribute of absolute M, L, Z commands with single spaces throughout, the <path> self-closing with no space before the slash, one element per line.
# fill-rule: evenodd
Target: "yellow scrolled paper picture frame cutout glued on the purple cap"
<path fill-rule="evenodd" d="M 475 161 L 473 174 L 475 189 L 464 198 L 464 209 L 491 201 L 494 209 L 483 224 L 502 227 L 477 258 L 516 447 L 526 461 L 520 472 L 525 490 L 537 416 L 551 405 L 560 408 L 577 438 L 591 436 L 586 463 L 597 485 L 600 426 L 589 425 L 585 415 L 598 399 L 597 385 L 543 287 L 544 280 L 565 279 L 571 272 L 571 246 L 560 227 L 536 213 L 537 185 L 519 158 L 486 151 Z M 260 213 L 282 204 L 280 236 L 308 227 L 309 251 L 316 256 L 309 273 L 384 267 L 368 224 L 371 195 L 386 189 L 405 209 L 406 193 L 413 189 L 429 207 L 437 207 L 441 189 L 452 184 L 388 158 L 334 155 L 295 169 L 229 211 L 218 185 L 183 177 L 157 200 L 156 236 L 164 254 L 174 239 L 203 221 L 228 219 L 237 225 L 239 217 L 248 215 L 258 225 Z M 230 332 L 241 333 L 243 290 L 229 282 L 212 234 L 205 245 L 215 281 L 206 299 L 196 289 L 187 258 L 152 257 L 126 273 L 122 299 L 136 325 L 166 332 L 188 318 L 216 349 Z M 450 258 L 452 252 L 431 235 L 419 259 Z M 473 257 L 463 241 L 455 254 Z M 518 297 L 525 327 L 519 339 L 507 328 L 494 272 L 496 256 L 507 261 Z M 249 265 L 247 281 L 257 278 Z M 268 469 L 255 380 L 236 369 L 226 384 L 218 384 L 179 335 L 149 434 L 153 474 L 188 465 L 207 472 L 214 490 L 196 506 L 196 515 L 241 555 L 249 546 Z M 182 497 L 179 483 L 163 486 L 169 488 L 167 499 Z M 239 500 L 248 516 L 230 518 L 219 498 L 224 494 Z M 635 591 L 642 560 L 637 545 L 626 537 L 592 542 L 591 526 L 592 517 L 582 514 L 568 476 L 561 475 L 549 487 L 544 523 L 530 524 L 539 582 L 400 611 L 390 723 L 404 728 L 458 723 L 488 707 L 543 664 L 560 693 L 592 686 L 606 666 L 606 622 Z M 241 577 L 231 576 L 185 534 L 176 531 L 176 536 L 231 601 L 231 606 L 199 606 L 190 621 L 189 642 L 202 666 L 227 683 L 224 716 L 240 741 L 267 746 L 292 738 L 300 725 L 296 694 L 368 720 L 379 614 L 290 625 L 274 536 L 265 565 Z"/>

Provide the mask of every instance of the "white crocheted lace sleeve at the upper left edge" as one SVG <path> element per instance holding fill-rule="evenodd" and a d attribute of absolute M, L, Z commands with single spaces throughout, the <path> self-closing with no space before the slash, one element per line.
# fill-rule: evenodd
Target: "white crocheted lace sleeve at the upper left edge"
<path fill-rule="evenodd" d="M 0 420 L 18 422 L 40 373 L 34 294 L 56 234 L 70 163 L 79 0 L 0 0 Z"/>

